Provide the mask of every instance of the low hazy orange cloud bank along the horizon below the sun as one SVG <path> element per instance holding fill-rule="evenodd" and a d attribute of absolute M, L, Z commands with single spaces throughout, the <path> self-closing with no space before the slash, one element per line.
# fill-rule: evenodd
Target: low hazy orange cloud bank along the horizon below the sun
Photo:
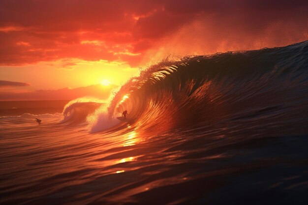
<path fill-rule="evenodd" d="M 62 88 L 57 90 L 36 90 L 31 92 L 0 92 L 0 100 L 72 100 L 91 96 L 106 99 L 116 86 L 91 85 L 80 88 Z"/>

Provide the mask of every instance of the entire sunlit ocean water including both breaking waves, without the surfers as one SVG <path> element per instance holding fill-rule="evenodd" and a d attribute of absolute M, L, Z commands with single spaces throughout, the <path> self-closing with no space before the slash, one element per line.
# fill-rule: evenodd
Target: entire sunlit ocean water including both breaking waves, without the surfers
<path fill-rule="evenodd" d="M 308 41 L 165 60 L 109 101 L 1 102 L 0 204 L 307 205 Z"/>

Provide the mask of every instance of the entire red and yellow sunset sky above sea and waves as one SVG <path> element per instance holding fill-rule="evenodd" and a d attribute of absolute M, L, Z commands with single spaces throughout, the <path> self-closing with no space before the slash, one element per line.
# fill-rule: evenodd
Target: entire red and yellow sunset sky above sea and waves
<path fill-rule="evenodd" d="M 166 57 L 305 40 L 307 0 L 0 0 L 0 100 L 105 97 Z"/>

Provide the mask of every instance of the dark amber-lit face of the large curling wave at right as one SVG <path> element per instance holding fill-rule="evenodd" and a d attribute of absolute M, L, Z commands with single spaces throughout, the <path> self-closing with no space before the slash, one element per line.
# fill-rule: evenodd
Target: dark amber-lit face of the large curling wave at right
<path fill-rule="evenodd" d="M 120 89 L 109 115 L 127 110 L 138 127 L 155 132 L 155 127 L 185 129 L 222 121 L 300 126 L 296 119 L 306 112 L 308 100 L 307 57 L 308 41 L 161 62 Z"/>

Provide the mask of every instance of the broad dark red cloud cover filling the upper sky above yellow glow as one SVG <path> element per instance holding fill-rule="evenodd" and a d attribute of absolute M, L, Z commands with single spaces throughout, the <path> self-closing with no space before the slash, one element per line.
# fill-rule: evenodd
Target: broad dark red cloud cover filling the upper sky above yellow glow
<path fill-rule="evenodd" d="M 192 55 L 282 46 L 307 40 L 307 9 L 307 0 L 3 0 L 0 64 L 75 58 L 136 66 L 178 47 Z"/>

